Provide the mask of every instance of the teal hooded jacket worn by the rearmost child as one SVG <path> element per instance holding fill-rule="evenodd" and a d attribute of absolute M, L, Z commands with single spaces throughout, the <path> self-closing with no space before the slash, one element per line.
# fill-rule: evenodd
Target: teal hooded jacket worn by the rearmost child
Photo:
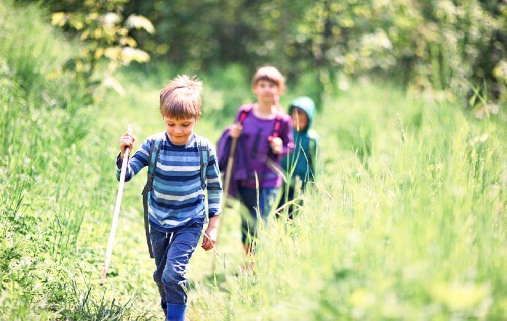
<path fill-rule="evenodd" d="M 292 171 L 293 179 L 299 176 L 304 189 L 308 181 L 315 181 L 318 137 L 317 133 L 311 129 L 315 117 L 315 103 L 309 97 L 299 97 L 289 105 L 289 114 L 293 108 L 302 109 L 306 113 L 308 126 L 301 131 L 296 131 L 296 128 L 293 128 L 294 150 L 282 159 L 281 165 L 287 173 Z M 294 180 L 292 180 L 292 184 L 294 184 Z"/>

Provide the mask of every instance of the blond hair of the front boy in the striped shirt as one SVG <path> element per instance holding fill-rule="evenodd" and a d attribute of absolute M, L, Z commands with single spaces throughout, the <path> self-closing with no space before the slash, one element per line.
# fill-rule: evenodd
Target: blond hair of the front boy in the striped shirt
<path fill-rule="evenodd" d="M 197 117 L 201 112 L 202 81 L 196 76 L 178 75 L 160 92 L 160 112 L 175 119 Z"/>

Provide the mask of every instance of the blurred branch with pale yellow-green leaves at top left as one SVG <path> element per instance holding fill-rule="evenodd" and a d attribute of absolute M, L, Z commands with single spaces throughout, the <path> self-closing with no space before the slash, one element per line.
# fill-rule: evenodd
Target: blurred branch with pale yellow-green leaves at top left
<path fill-rule="evenodd" d="M 123 94 L 122 86 L 113 78 L 116 69 L 132 61 L 144 63 L 150 60 L 146 51 L 136 48 L 137 42 L 130 37 L 132 29 L 143 29 L 152 34 L 155 28 L 143 16 L 131 14 L 125 21 L 122 15 L 126 0 L 85 1 L 76 12 L 56 12 L 51 23 L 67 27 L 79 34 L 84 42 L 81 52 L 67 60 L 67 70 L 87 86 L 98 83 Z M 101 64 L 101 59 L 107 63 Z"/>

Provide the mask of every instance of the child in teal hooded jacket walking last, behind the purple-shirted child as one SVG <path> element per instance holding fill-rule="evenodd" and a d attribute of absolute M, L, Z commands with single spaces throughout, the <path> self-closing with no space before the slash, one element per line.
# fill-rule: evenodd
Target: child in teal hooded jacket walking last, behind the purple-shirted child
<path fill-rule="evenodd" d="M 288 108 L 292 118 L 294 151 L 282 159 L 282 168 L 292 172 L 290 184 L 282 187 L 278 208 L 294 199 L 296 181 L 301 181 L 301 191 L 308 182 L 315 181 L 315 162 L 317 156 L 317 134 L 310 129 L 315 115 L 315 103 L 309 97 L 296 98 Z M 289 206 L 289 219 L 293 218 L 293 206 Z"/>

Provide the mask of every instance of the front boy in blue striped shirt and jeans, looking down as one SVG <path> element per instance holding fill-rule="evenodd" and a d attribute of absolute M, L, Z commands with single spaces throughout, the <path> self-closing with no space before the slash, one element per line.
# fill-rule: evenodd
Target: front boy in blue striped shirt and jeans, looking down
<path fill-rule="evenodd" d="M 171 321 L 185 319 L 185 272 L 206 221 L 203 195 L 206 186 L 209 223 L 202 242 L 206 251 L 216 243 L 221 212 L 222 186 L 214 148 L 207 139 L 193 133 L 201 116 L 201 90 L 201 81 L 182 75 L 161 91 L 160 114 L 165 132 L 152 135 L 142 143 L 130 158 L 125 177 L 125 181 L 129 181 L 144 166 L 150 166 L 149 155 L 159 146 L 158 157 L 154 153 L 152 159 L 156 161 L 151 162 L 156 166 L 152 171 L 153 185 L 148 188 L 148 245 L 150 252 L 153 246 L 157 266 L 153 278 L 160 292 L 162 309 L 166 320 Z M 117 178 L 125 148 L 132 148 L 134 141 L 128 132 L 120 137 Z M 207 162 L 203 161 L 204 147 L 208 151 Z"/>

